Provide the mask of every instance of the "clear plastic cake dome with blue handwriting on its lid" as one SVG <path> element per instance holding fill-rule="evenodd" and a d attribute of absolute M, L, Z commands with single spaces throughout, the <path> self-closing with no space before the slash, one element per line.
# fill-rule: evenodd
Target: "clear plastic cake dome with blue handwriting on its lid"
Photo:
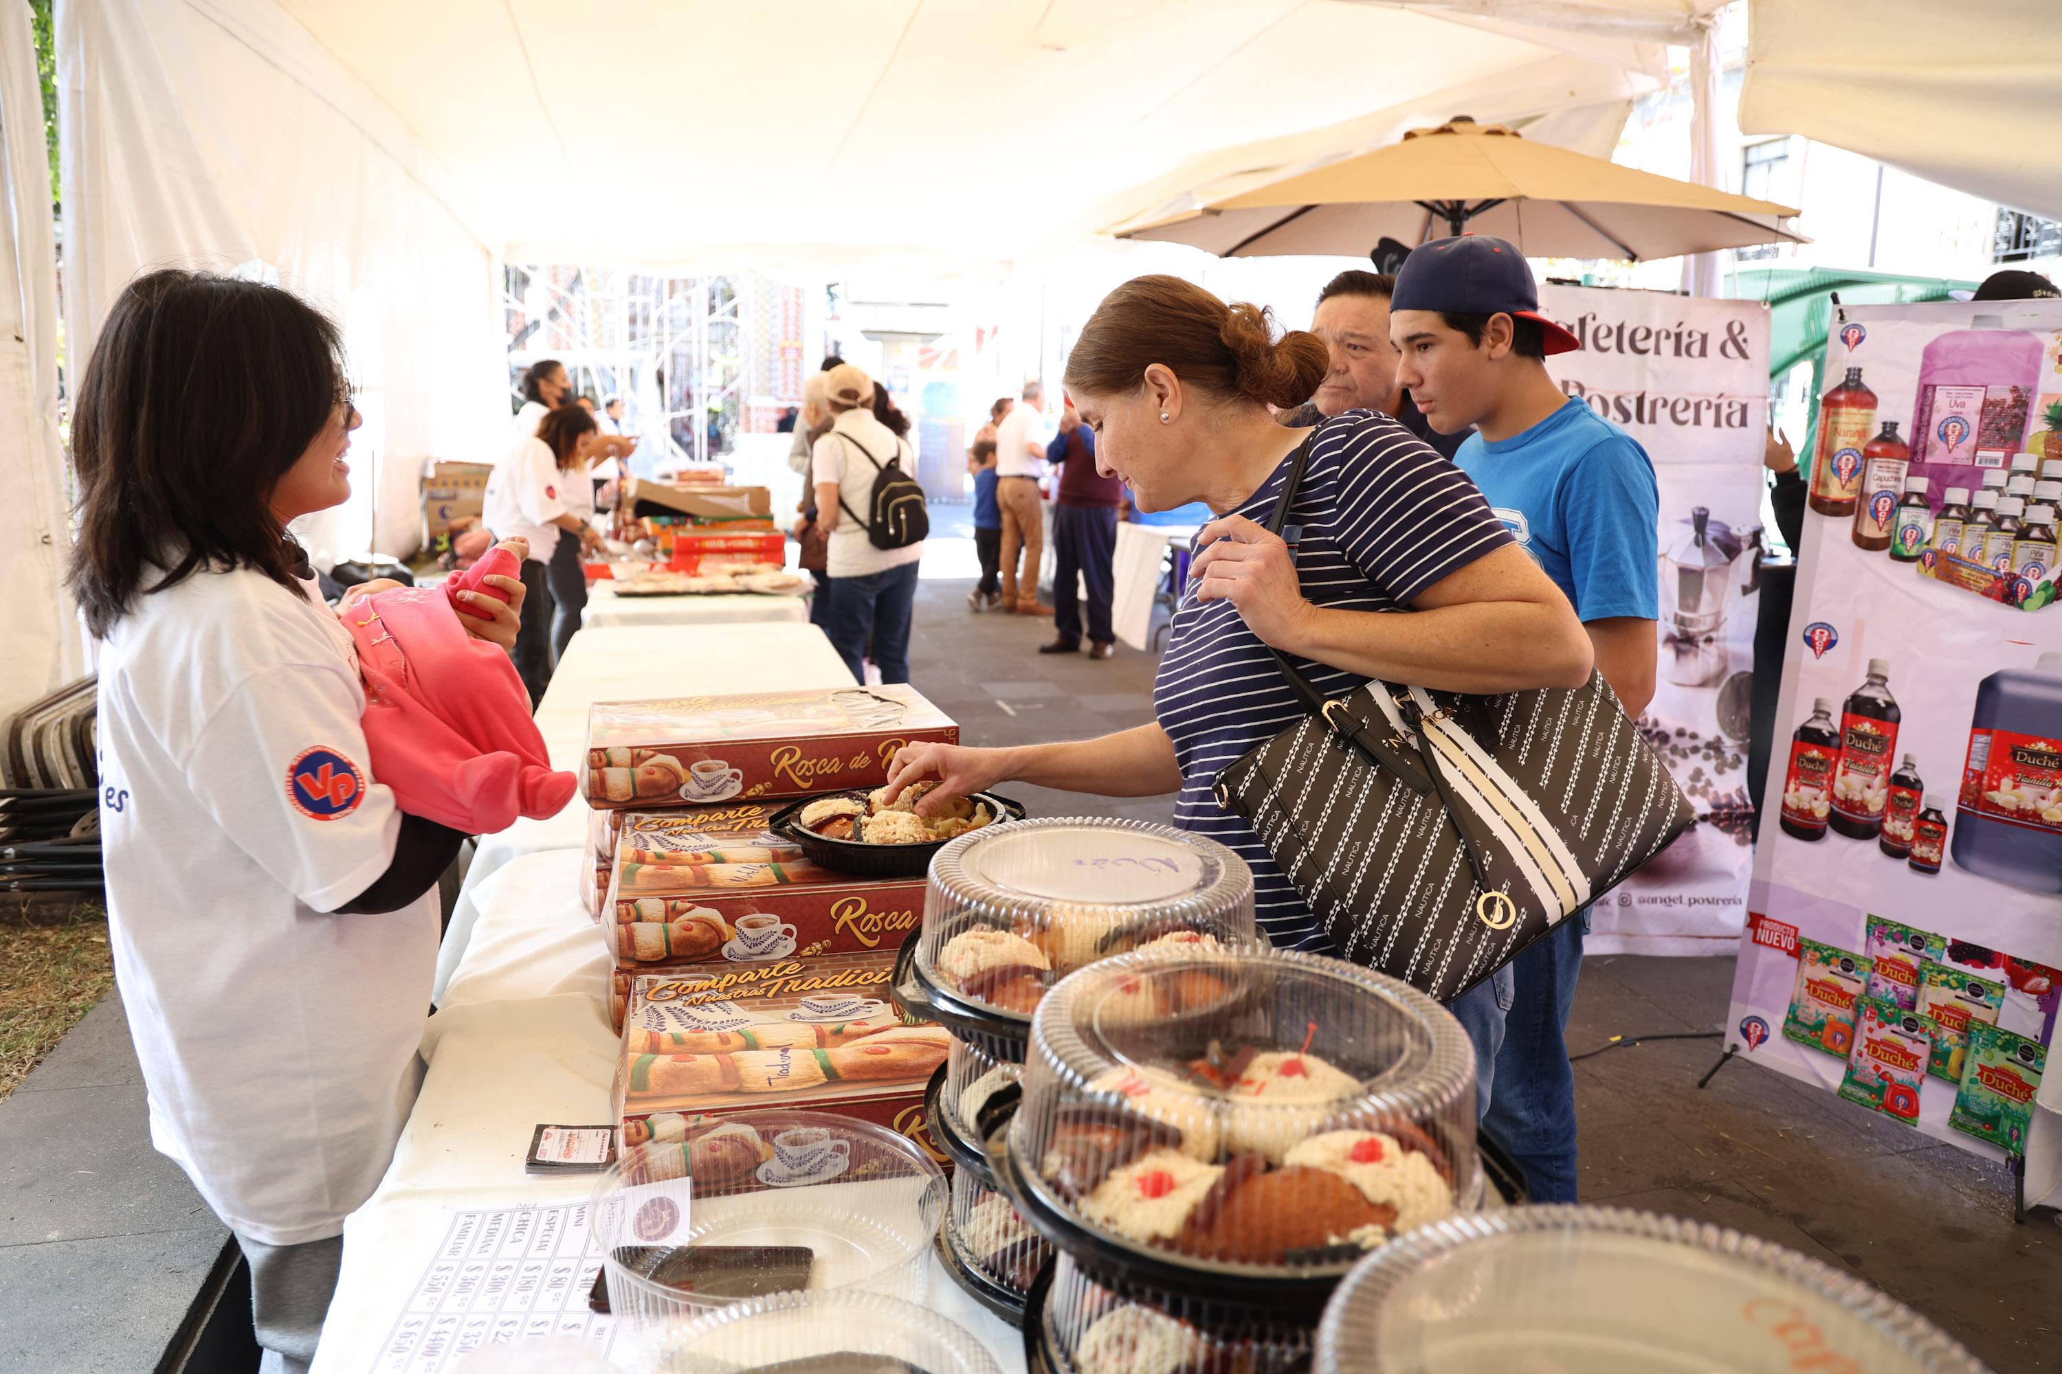
<path fill-rule="evenodd" d="M 916 970 L 1021 1036 L 1054 983 L 1153 943 L 1258 943 L 1245 861 L 1173 826 L 1025 820 L 932 859 Z"/>

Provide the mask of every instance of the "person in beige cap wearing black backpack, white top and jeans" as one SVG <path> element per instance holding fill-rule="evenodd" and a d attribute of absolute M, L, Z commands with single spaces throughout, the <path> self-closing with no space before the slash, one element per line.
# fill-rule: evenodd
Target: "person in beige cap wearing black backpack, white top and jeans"
<path fill-rule="evenodd" d="M 831 614 L 823 632 L 866 682 L 866 645 L 883 682 L 909 682 L 909 616 L 924 556 L 916 449 L 874 418 L 874 383 L 843 363 L 825 373 L 831 433 L 810 451 L 817 523 L 829 531 Z"/>

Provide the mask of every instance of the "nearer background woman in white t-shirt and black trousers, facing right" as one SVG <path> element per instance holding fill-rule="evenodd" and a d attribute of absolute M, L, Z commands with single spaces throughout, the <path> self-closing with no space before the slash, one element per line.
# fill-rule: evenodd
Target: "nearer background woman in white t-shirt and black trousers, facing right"
<path fill-rule="evenodd" d="M 497 540 L 530 542 L 522 564 L 530 599 L 516 637 L 516 672 L 532 707 L 551 686 L 553 663 L 588 608 L 581 554 L 602 542 L 588 523 L 594 515 L 588 463 L 610 443 L 621 439 L 598 433 L 586 406 L 559 406 L 538 422 L 534 439 L 518 439 L 487 476 L 480 521 Z"/>

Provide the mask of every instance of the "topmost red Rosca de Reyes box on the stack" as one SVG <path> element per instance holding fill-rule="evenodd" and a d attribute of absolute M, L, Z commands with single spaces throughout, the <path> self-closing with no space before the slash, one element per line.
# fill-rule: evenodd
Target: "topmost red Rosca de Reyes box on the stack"
<path fill-rule="evenodd" d="M 959 744 L 959 725 L 905 684 L 604 700 L 584 789 L 594 808 L 808 797 L 883 785 L 922 740 Z"/>

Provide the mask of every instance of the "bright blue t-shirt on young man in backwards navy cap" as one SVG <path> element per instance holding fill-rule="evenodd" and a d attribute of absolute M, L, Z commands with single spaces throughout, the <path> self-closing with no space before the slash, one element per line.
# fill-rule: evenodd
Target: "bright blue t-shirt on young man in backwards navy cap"
<path fill-rule="evenodd" d="M 1454 461 L 1579 620 L 1660 618 L 1662 496 L 1637 439 L 1571 398 L 1511 439 L 1470 437 Z"/>

